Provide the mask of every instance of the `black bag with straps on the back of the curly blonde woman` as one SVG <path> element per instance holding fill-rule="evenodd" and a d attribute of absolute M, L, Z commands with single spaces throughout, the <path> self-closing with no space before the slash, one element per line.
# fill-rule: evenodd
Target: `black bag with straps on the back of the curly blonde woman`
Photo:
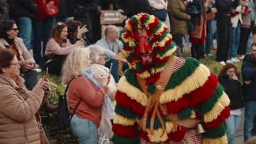
<path fill-rule="evenodd" d="M 58 110 L 57 110 L 57 127 L 61 131 L 61 133 L 63 131 L 67 131 L 69 129 L 70 121 L 75 114 L 75 110 L 77 110 L 77 107 L 79 106 L 79 104 L 82 101 L 82 99 L 80 99 L 78 101 L 78 104 L 77 104 L 77 106 L 75 106 L 75 109 L 71 115 L 71 118 L 69 119 L 70 115 L 69 115 L 68 107 L 67 107 L 66 93 L 68 90 L 69 83 L 74 79 L 75 79 L 75 77 L 68 82 L 68 85 L 65 89 L 64 95 L 59 95 Z"/>

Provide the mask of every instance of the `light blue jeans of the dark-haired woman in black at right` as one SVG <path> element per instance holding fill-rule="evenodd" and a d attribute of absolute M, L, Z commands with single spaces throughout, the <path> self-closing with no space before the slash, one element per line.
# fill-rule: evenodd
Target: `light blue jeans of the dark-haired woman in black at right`
<path fill-rule="evenodd" d="M 229 144 L 235 143 L 236 131 L 240 126 L 241 115 L 230 115 L 227 119 L 226 124 L 228 125 L 228 130 L 226 131 L 226 135 L 228 136 Z"/>

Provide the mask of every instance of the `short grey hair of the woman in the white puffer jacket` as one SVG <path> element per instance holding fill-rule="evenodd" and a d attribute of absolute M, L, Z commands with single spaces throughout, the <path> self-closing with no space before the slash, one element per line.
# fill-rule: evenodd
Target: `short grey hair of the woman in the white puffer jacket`
<path fill-rule="evenodd" d="M 104 51 L 103 47 L 101 47 L 100 45 L 90 45 L 87 47 L 90 50 L 90 59 L 92 63 L 98 63 L 98 59 L 100 58 L 100 56 L 98 55 L 99 51 Z"/>

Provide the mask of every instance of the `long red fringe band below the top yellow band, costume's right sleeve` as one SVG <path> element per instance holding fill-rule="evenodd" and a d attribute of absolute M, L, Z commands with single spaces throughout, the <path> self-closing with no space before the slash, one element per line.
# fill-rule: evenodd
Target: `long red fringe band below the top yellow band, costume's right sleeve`
<path fill-rule="evenodd" d="M 197 106 L 203 101 L 208 100 L 213 94 L 213 90 L 218 86 L 218 79 L 215 75 L 211 74 L 208 77 L 206 83 L 195 89 L 195 91 L 190 92 L 189 94 L 183 95 L 181 99 L 177 101 L 171 101 L 167 104 L 168 113 L 176 113 L 181 109 L 187 108 L 189 106 Z"/>

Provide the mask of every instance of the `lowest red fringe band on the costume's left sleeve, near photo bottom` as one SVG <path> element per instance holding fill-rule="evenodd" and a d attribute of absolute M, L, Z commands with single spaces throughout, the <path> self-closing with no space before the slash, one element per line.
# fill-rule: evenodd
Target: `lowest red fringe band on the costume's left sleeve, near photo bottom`
<path fill-rule="evenodd" d="M 135 137 L 137 129 L 135 125 L 124 126 L 120 124 L 113 124 L 112 130 L 114 133 L 117 133 L 118 136 L 129 137 L 132 139 Z"/>

